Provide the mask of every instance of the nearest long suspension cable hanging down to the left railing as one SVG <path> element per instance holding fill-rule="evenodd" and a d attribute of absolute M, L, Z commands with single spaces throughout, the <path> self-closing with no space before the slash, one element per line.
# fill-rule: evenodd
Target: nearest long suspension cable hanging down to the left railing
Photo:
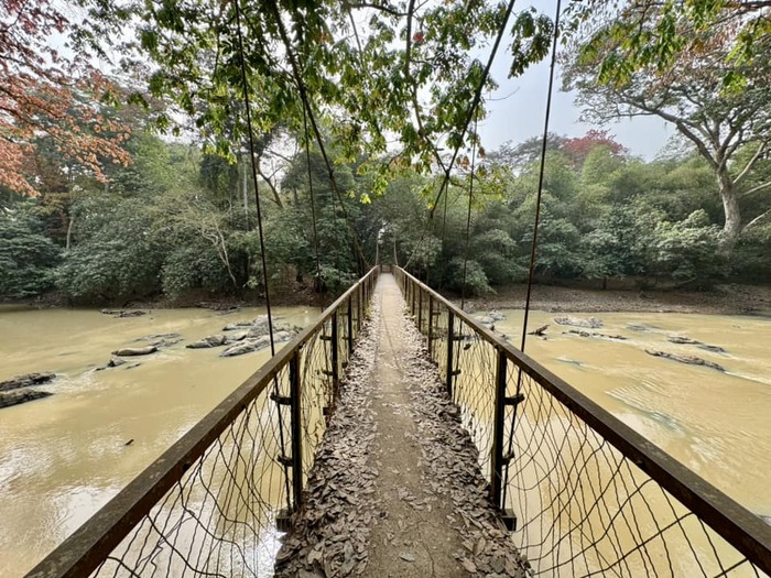
<path fill-rule="evenodd" d="M 270 355 L 275 356 L 275 340 L 273 338 L 273 315 L 270 306 L 270 287 L 268 286 L 268 260 L 265 259 L 265 239 L 262 226 L 262 210 L 260 208 L 260 192 L 258 187 L 257 178 L 257 163 L 254 159 L 254 131 L 252 130 L 251 121 L 251 103 L 249 102 L 249 81 L 247 76 L 247 64 L 243 55 L 243 34 L 241 33 L 241 8 L 239 6 L 239 0 L 234 0 L 234 6 L 236 7 L 236 30 L 238 36 L 238 54 L 241 64 L 241 81 L 243 83 L 243 105 L 246 108 L 247 116 L 247 130 L 249 131 L 249 155 L 251 157 L 251 175 L 254 183 L 254 203 L 257 206 L 257 229 L 260 239 L 260 259 L 262 263 L 262 283 L 265 286 L 265 309 L 268 310 L 268 335 L 270 336 Z M 273 378 L 273 393 L 276 399 L 279 396 L 279 379 Z M 279 414 L 279 443 L 281 447 L 281 454 L 286 455 L 285 451 L 285 440 L 284 440 L 284 424 L 283 417 L 281 415 L 281 405 L 276 404 L 276 410 Z M 283 465 L 284 469 L 284 489 L 286 494 L 286 508 L 292 510 L 292 503 L 290 501 L 290 482 L 289 482 L 289 466 Z M 295 472 L 300 475 L 300 472 Z"/>

